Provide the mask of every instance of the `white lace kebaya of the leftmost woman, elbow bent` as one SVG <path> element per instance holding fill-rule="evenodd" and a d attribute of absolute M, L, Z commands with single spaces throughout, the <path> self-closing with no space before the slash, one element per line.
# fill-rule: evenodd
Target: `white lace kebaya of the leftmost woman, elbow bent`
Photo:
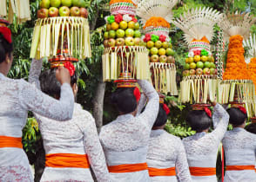
<path fill-rule="evenodd" d="M 54 120 L 70 120 L 74 107 L 72 95 L 67 83 L 62 85 L 61 98 L 57 101 L 27 81 L 12 80 L 0 74 L 0 136 L 21 138 L 28 111 Z M 0 148 L 0 181 L 34 181 L 22 148 Z"/>

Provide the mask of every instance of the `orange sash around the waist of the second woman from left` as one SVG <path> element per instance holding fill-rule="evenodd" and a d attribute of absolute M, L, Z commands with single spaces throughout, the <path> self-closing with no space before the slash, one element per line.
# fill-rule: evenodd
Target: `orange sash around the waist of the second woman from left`
<path fill-rule="evenodd" d="M 45 155 L 45 166 L 89 168 L 90 163 L 86 154 L 51 153 Z"/>

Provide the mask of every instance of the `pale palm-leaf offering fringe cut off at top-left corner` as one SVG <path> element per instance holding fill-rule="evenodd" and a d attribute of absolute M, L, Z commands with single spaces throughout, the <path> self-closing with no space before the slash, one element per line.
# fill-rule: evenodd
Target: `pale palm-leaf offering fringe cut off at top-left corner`
<path fill-rule="evenodd" d="M 30 20 L 30 1 L 29 0 L 1 0 L 0 18 L 7 18 L 12 23 L 14 16 L 17 23 L 24 23 Z"/>

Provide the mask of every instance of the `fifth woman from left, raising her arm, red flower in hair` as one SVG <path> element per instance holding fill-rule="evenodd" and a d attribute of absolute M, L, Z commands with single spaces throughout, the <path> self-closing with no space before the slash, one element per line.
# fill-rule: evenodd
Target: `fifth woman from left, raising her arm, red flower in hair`
<path fill-rule="evenodd" d="M 197 133 L 183 140 L 192 181 L 217 182 L 216 160 L 220 141 L 226 133 L 229 115 L 219 104 L 211 110 L 192 110 L 186 121 Z M 212 133 L 207 133 L 212 125 Z"/>

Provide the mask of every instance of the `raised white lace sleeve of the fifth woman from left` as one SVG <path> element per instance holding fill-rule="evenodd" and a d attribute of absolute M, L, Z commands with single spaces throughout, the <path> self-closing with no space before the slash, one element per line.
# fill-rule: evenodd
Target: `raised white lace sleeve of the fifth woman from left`
<path fill-rule="evenodd" d="M 213 135 L 218 140 L 222 140 L 224 134 L 226 133 L 226 128 L 229 121 L 229 115 L 227 114 L 225 108 L 219 104 L 216 104 L 213 109 L 212 120 L 216 123 L 216 127 L 209 135 Z"/>

